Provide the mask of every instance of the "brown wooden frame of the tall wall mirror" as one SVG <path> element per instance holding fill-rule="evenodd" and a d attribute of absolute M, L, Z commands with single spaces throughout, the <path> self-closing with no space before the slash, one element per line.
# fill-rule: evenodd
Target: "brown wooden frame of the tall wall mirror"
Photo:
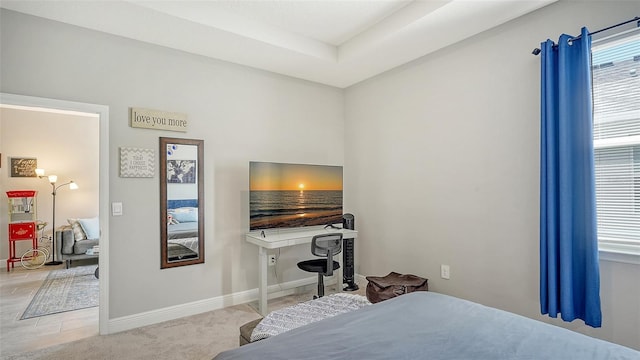
<path fill-rule="evenodd" d="M 169 261 L 167 258 L 167 145 L 194 145 L 198 148 L 196 176 L 198 182 L 198 257 Z M 160 137 L 160 268 L 204 263 L 204 140 Z"/>

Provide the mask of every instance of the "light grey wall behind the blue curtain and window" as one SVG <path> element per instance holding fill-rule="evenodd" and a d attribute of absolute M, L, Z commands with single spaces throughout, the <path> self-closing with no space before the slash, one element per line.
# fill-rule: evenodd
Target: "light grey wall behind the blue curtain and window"
<path fill-rule="evenodd" d="M 356 272 L 414 273 L 431 290 L 547 319 L 538 300 L 540 58 L 531 51 L 638 10 L 556 3 L 349 88 Z M 603 327 L 554 323 L 640 349 L 640 266 L 602 261 L 601 270 Z"/>

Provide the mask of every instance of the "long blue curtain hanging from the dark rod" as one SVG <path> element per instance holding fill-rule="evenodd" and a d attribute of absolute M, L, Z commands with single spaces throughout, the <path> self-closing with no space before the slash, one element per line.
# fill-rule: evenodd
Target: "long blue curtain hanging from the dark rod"
<path fill-rule="evenodd" d="M 591 37 L 542 43 L 540 308 L 600 327 Z"/>

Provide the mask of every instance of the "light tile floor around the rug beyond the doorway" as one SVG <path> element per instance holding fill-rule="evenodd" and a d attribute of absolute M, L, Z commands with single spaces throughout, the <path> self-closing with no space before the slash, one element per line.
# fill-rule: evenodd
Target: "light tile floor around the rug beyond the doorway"
<path fill-rule="evenodd" d="M 2 265 L 6 266 L 6 262 Z M 98 307 L 20 320 L 49 272 L 64 265 L 0 269 L 0 358 L 98 334 Z"/>

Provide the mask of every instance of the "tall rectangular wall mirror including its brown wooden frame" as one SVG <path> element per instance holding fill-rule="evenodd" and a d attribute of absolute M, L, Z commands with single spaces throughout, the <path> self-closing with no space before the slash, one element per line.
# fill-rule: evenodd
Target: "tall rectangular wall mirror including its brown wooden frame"
<path fill-rule="evenodd" d="M 161 268 L 204 263 L 204 141 L 160 138 Z"/>

